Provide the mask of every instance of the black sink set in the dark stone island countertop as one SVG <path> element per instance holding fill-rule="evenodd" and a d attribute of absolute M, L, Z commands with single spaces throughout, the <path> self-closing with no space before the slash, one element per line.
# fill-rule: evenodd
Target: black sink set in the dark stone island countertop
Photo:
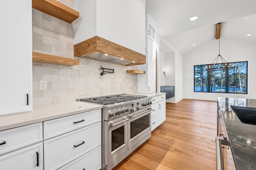
<path fill-rule="evenodd" d="M 256 125 L 256 108 L 230 106 L 242 123 Z"/>

